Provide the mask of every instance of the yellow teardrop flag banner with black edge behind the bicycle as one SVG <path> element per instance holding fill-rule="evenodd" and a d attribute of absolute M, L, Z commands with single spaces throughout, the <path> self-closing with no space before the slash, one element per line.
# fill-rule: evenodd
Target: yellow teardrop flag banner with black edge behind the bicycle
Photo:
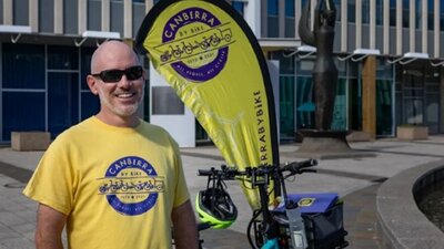
<path fill-rule="evenodd" d="M 135 49 L 194 113 L 229 166 L 279 165 L 269 70 L 243 18 L 222 0 L 162 0 L 144 18 Z M 244 187 L 253 209 L 255 189 Z"/>

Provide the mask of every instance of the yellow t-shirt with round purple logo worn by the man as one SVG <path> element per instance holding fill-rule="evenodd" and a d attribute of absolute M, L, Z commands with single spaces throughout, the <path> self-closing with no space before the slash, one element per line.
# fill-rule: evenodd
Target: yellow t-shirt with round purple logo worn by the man
<path fill-rule="evenodd" d="M 189 199 L 178 145 L 164 129 L 97 117 L 57 137 L 23 194 L 68 216 L 71 249 L 171 248 L 171 211 Z"/>

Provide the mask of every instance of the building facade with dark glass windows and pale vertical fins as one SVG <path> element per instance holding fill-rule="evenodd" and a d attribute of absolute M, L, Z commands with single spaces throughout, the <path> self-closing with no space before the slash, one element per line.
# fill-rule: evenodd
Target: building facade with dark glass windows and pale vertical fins
<path fill-rule="evenodd" d="M 47 131 L 56 137 L 97 113 L 99 102 L 85 83 L 92 52 L 107 39 L 131 43 L 158 1 L 0 0 L 0 143 L 9 143 L 13 131 Z M 280 62 L 275 94 L 281 139 L 295 139 L 297 129 L 314 125 L 315 50 L 297 34 L 307 1 L 316 3 L 229 1 L 251 27 L 266 59 Z M 332 129 L 391 137 L 397 125 L 416 124 L 431 134 L 444 133 L 444 3 L 334 3 L 340 74 Z M 150 97 L 141 115 L 150 118 Z M 199 125 L 195 132 L 198 141 L 206 139 Z"/>

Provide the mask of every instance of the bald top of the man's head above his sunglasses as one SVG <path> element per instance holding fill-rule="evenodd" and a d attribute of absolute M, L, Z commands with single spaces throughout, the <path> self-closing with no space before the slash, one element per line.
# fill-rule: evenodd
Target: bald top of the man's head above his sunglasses
<path fill-rule="evenodd" d="M 120 69 L 121 61 L 132 61 L 140 64 L 134 51 L 121 41 L 103 42 L 92 54 L 91 73 L 99 73 L 103 70 Z"/>

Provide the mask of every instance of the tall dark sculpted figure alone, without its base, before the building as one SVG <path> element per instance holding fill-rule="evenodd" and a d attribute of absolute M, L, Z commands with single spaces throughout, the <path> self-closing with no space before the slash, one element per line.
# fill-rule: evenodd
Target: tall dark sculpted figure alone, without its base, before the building
<path fill-rule="evenodd" d="M 337 69 L 333 61 L 334 24 L 336 9 L 333 0 L 317 0 L 314 11 L 314 29 L 310 29 L 310 0 L 301 14 L 301 40 L 317 50 L 313 66 L 315 127 L 329 131 L 333 118 L 336 95 Z"/>

